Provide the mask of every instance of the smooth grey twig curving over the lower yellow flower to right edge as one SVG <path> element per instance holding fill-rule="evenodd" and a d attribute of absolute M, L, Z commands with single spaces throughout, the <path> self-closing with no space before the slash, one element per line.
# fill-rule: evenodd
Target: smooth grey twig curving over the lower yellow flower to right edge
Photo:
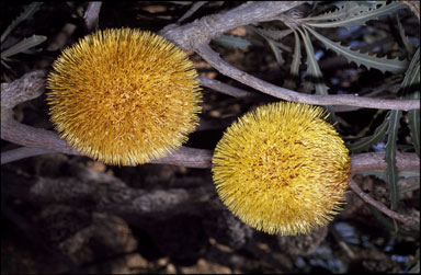
<path fill-rule="evenodd" d="M 271 84 L 266 81 L 258 79 L 247 72 L 243 72 L 230 64 L 226 62 L 223 58 L 215 53 L 209 45 L 203 44 L 198 46 L 195 51 L 205 59 L 212 67 L 217 69 L 220 73 L 232 78 L 243 84 L 252 87 L 263 93 L 272 96 L 307 104 L 316 105 L 350 105 L 371 108 L 387 108 L 387 110 L 413 110 L 420 108 L 419 100 L 386 100 L 386 99 L 372 99 L 355 95 L 317 95 L 304 94 L 295 91 Z"/>

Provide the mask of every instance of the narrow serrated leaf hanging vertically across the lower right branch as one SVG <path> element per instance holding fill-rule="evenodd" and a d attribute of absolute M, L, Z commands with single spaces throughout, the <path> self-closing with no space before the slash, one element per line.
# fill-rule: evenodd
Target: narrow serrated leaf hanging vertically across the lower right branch
<path fill-rule="evenodd" d="M 387 142 L 386 142 L 386 163 L 387 163 L 387 183 L 389 186 L 390 196 L 390 209 L 396 210 L 399 202 L 399 190 L 398 190 L 398 168 L 396 167 L 396 141 L 398 136 L 398 129 L 400 127 L 400 117 L 402 111 L 391 110 L 387 119 L 389 125 L 387 127 Z"/>

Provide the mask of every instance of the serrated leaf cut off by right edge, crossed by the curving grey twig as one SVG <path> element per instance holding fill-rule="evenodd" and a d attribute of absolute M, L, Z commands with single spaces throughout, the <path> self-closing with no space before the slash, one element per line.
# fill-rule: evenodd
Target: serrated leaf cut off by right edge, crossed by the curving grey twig
<path fill-rule="evenodd" d="M 403 88 L 403 94 L 408 99 L 420 99 L 420 91 L 414 91 L 410 94 L 409 89 L 420 85 L 420 48 L 417 49 L 412 57 L 411 64 L 407 70 L 401 87 Z M 408 126 L 411 131 L 413 147 L 418 157 L 420 157 L 420 110 L 410 110 L 408 112 Z"/>

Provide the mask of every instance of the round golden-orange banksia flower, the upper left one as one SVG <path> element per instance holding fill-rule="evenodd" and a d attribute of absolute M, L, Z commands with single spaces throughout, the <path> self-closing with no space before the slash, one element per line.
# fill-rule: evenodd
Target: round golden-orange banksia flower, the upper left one
<path fill-rule="evenodd" d="M 61 138 L 104 163 L 135 165 L 174 151 L 201 112 L 186 55 L 150 32 L 99 31 L 66 48 L 47 78 Z"/>

